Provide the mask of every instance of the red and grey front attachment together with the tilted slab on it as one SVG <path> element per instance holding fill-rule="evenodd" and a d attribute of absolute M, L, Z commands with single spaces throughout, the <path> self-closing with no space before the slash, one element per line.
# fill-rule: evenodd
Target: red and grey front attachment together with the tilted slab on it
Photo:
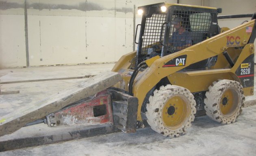
<path fill-rule="evenodd" d="M 0 117 L 0 136 L 40 120 L 49 127 L 112 124 L 124 132 L 136 132 L 137 98 L 115 88 L 108 89 L 120 80 L 116 72 L 99 74 L 30 107 Z"/>

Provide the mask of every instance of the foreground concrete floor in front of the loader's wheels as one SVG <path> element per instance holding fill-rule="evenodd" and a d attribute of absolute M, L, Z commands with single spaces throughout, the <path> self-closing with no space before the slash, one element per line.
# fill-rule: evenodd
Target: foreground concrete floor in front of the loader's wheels
<path fill-rule="evenodd" d="M 187 134 L 169 139 L 150 128 L 0 152 L 0 156 L 255 156 L 256 106 L 244 108 L 234 124 L 197 117 Z"/>

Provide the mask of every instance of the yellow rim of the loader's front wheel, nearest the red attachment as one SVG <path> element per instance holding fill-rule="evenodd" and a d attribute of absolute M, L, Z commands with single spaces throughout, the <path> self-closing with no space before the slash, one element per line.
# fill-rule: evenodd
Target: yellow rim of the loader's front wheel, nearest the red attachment
<path fill-rule="evenodd" d="M 174 96 L 165 102 L 162 110 L 162 120 L 165 127 L 176 129 L 186 121 L 191 111 L 187 103 L 189 102 L 180 96 Z"/>

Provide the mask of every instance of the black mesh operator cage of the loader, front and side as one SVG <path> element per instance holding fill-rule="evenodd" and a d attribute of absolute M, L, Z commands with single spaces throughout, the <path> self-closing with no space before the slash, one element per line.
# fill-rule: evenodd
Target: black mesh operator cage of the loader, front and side
<path fill-rule="evenodd" d="M 165 56 L 219 34 L 217 10 L 215 9 L 174 5 L 170 6 L 168 10 L 167 13 L 156 11 L 151 15 L 144 15 L 141 23 L 137 63 L 150 58 L 150 54 L 153 52 Z M 174 26 L 177 18 L 180 19 L 179 24 L 185 30 L 184 36 L 179 36 L 181 39 L 173 37 L 178 33 Z M 163 30 L 161 30 L 162 28 Z M 179 49 L 171 51 L 171 45 L 179 47 Z M 195 64 L 191 69 L 205 69 L 207 66 L 214 65 L 216 59 L 216 57 L 206 59 Z"/>

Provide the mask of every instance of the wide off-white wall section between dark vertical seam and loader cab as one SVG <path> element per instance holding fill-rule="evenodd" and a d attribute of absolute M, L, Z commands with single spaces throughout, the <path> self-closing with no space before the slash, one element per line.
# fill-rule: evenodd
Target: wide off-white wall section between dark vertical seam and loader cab
<path fill-rule="evenodd" d="M 96 2 L 49 1 L 40 6 L 51 4 L 50 9 L 30 7 L 30 65 L 115 62 L 132 51 L 133 4 L 124 4 L 124 0 Z"/>

